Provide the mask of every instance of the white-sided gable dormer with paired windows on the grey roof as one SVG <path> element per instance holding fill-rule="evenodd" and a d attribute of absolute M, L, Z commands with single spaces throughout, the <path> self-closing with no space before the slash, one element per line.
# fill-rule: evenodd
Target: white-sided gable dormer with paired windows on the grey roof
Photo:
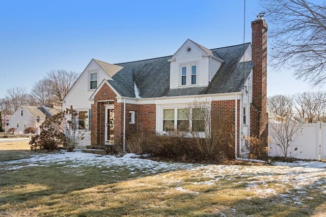
<path fill-rule="evenodd" d="M 170 61 L 170 88 L 207 86 L 223 60 L 187 39 Z"/>

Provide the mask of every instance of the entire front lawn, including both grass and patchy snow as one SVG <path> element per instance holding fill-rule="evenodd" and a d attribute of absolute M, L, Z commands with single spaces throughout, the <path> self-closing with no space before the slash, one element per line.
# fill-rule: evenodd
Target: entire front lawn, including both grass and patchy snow
<path fill-rule="evenodd" d="M 28 141 L 0 142 L 0 156 L 0 216 L 326 215 L 323 162 L 182 164 L 35 153 Z"/>

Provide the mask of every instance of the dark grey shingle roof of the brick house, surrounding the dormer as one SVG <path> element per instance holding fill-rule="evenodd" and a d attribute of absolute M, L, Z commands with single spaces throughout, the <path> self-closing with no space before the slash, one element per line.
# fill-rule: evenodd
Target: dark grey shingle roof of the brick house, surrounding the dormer
<path fill-rule="evenodd" d="M 195 42 L 194 42 L 195 43 Z M 197 43 L 195 43 L 198 45 Z M 224 60 L 218 72 L 206 87 L 187 87 L 170 89 L 170 59 L 172 56 L 132 61 L 120 64 L 106 64 L 102 66 L 121 67 L 120 71 L 112 76 L 113 81 L 108 82 L 124 97 L 134 97 L 133 82 L 140 90 L 141 98 L 155 98 L 164 96 L 186 96 L 202 94 L 220 94 L 227 92 L 239 92 L 252 70 L 252 61 L 239 63 L 243 50 L 246 50 L 250 43 L 234 45 L 223 48 L 208 50 L 201 48 L 208 54 L 212 54 Z M 102 67 L 101 66 L 101 67 Z M 103 67 L 102 67 L 103 68 Z"/>

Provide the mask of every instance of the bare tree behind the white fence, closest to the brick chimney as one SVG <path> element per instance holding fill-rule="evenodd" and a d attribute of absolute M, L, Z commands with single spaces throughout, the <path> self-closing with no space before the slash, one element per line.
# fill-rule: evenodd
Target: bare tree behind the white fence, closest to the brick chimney
<path fill-rule="evenodd" d="M 284 117 L 292 114 L 293 99 L 283 95 L 275 95 L 267 99 L 268 111 Z"/>

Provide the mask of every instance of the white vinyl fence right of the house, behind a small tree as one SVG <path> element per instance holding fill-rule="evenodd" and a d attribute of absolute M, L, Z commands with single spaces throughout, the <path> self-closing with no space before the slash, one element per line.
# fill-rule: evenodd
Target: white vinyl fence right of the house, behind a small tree
<path fill-rule="evenodd" d="M 275 127 L 270 125 L 275 125 L 275 123 L 270 123 L 268 127 L 268 156 L 284 156 L 281 147 L 277 145 L 276 138 L 273 138 Z M 287 157 L 309 160 L 326 159 L 326 123 L 305 123 L 294 137 L 295 139 L 288 147 Z"/>

